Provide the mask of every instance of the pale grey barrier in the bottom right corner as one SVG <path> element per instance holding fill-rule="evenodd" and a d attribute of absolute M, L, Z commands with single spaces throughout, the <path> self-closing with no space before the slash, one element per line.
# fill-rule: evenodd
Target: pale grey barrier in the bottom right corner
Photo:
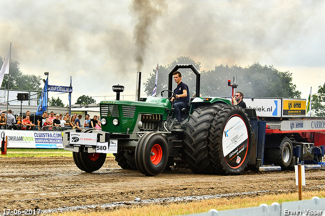
<path fill-rule="evenodd" d="M 211 209 L 206 213 L 187 214 L 187 216 L 284 216 L 284 215 L 323 215 L 325 214 L 325 198 L 313 197 L 311 200 L 301 200 L 293 202 L 277 202 L 271 205 L 261 204 L 258 207 L 241 208 L 225 211 Z"/>

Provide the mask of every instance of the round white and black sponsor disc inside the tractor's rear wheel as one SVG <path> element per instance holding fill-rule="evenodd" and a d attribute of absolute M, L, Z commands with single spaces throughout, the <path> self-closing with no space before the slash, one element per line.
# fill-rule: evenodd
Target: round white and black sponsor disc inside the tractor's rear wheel
<path fill-rule="evenodd" d="M 240 166 L 246 157 L 247 145 L 246 124 L 242 118 L 234 116 L 226 123 L 222 135 L 222 152 L 229 166 Z"/>

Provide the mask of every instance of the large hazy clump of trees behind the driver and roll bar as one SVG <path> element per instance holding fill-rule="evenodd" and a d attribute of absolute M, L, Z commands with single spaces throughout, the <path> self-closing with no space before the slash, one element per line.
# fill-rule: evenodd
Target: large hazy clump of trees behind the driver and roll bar
<path fill-rule="evenodd" d="M 177 58 L 177 61 L 158 68 L 157 93 L 168 88 L 168 74 L 178 63 L 191 63 L 200 71 L 200 62 L 196 63 L 189 57 Z M 154 73 L 150 73 L 150 78 L 144 83 L 147 95 L 151 95 L 155 82 Z M 195 75 L 191 70 L 181 71 L 182 81 L 186 83 L 190 90 L 190 96 L 195 89 Z M 200 71 L 201 89 L 203 96 L 229 97 L 231 88 L 228 87 L 228 80 L 233 83 L 233 77 L 237 76 L 236 90 L 244 92 L 246 97 L 289 97 L 300 98 L 301 92 L 296 90 L 296 85 L 292 83 L 292 74 L 288 71 L 278 71 L 274 66 L 261 65 L 258 62 L 245 68 L 237 65 L 215 66 L 213 70 Z M 175 87 L 173 87 L 175 88 Z"/>

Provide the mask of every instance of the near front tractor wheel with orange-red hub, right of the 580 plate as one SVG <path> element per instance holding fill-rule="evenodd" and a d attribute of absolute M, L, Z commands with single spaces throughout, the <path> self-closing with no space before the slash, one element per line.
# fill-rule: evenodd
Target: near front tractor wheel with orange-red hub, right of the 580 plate
<path fill-rule="evenodd" d="M 136 165 L 146 176 L 155 176 L 163 172 L 168 156 L 167 140 L 160 133 L 149 132 L 138 140 L 135 151 Z"/>

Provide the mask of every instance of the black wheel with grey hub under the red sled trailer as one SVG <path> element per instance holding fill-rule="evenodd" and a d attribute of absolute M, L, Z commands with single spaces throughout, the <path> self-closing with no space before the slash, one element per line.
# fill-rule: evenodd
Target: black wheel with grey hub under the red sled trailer
<path fill-rule="evenodd" d="M 280 148 L 268 149 L 268 159 L 270 163 L 286 169 L 293 159 L 293 144 L 291 140 L 284 137 L 281 141 Z"/>

